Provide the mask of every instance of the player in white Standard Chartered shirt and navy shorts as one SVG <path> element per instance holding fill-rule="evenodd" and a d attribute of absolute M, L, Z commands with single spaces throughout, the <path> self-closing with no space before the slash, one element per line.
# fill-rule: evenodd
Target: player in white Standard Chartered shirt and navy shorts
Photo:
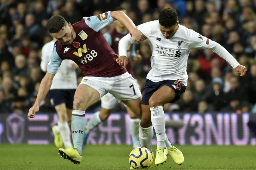
<path fill-rule="evenodd" d="M 174 146 L 166 148 L 163 105 L 179 100 L 186 90 L 186 65 L 191 48 L 212 50 L 225 59 L 240 76 L 244 76 L 247 70 L 220 44 L 180 25 L 178 14 L 173 8 L 162 9 L 158 20 L 138 25 L 137 29 L 148 38 L 152 51 L 152 70 L 147 75 L 141 101 L 140 143 L 151 150 L 154 127 L 157 137 L 155 164 L 165 162 L 167 154 L 180 164 L 184 161 L 180 150 Z M 130 34 L 119 41 L 119 65 L 127 63 L 126 49 L 132 43 Z"/>

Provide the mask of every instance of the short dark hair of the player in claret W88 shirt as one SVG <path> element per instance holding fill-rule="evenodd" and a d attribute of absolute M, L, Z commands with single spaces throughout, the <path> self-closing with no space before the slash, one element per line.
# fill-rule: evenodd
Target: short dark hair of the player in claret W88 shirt
<path fill-rule="evenodd" d="M 67 24 L 67 21 L 60 15 L 53 15 L 47 22 L 47 29 L 50 33 L 57 33 Z"/>

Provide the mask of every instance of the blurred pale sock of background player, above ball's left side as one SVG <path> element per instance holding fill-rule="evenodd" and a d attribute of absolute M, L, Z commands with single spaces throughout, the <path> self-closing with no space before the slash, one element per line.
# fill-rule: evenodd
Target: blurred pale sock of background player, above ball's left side
<path fill-rule="evenodd" d="M 139 140 L 139 128 L 140 128 L 140 119 L 130 119 L 130 133 L 132 139 L 133 148 L 140 146 Z"/>

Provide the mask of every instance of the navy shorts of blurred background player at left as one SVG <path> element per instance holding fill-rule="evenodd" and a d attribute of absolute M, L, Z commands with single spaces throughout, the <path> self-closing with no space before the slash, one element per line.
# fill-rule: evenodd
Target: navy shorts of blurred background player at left
<path fill-rule="evenodd" d="M 54 107 L 65 103 L 67 108 L 73 109 L 75 92 L 76 89 L 52 89 L 49 91 L 48 96 Z"/>

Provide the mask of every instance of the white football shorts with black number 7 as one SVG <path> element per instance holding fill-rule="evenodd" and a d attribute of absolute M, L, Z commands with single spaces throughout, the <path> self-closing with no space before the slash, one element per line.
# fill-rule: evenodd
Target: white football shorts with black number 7
<path fill-rule="evenodd" d="M 137 99 L 141 96 L 135 79 L 128 72 L 114 77 L 85 76 L 80 84 L 86 84 L 96 89 L 100 93 L 100 98 L 111 93 L 118 102 Z"/>

